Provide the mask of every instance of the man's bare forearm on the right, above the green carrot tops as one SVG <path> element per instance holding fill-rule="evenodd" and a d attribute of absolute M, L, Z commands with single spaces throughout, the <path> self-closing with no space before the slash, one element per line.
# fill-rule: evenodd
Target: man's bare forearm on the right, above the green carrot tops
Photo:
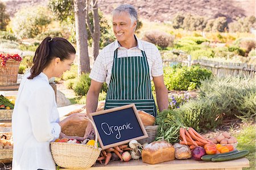
<path fill-rule="evenodd" d="M 167 89 L 165 87 L 160 89 L 155 89 L 155 92 L 156 92 L 156 101 L 158 102 L 159 111 L 168 109 L 169 101 L 168 101 Z"/>

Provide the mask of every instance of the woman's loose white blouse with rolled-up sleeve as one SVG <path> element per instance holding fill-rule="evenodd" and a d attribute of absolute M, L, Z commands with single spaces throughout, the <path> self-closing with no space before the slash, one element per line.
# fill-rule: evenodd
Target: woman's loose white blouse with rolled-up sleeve
<path fill-rule="evenodd" d="M 26 74 L 15 102 L 13 169 L 55 169 L 49 142 L 59 138 L 59 113 L 48 77 Z"/>

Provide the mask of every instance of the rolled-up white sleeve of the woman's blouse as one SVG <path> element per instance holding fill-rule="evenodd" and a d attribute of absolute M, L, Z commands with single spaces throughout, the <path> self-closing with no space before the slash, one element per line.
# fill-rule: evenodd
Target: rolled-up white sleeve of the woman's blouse
<path fill-rule="evenodd" d="M 30 116 L 32 133 L 39 142 L 51 142 L 59 137 L 60 125 L 50 122 L 50 114 L 54 105 L 54 94 L 47 87 L 39 88 L 31 94 L 28 115 Z"/>

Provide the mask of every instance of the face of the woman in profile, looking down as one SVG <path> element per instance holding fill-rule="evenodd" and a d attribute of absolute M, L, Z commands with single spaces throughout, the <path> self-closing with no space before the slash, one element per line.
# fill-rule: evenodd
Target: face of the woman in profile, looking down
<path fill-rule="evenodd" d="M 65 71 L 69 71 L 71 69 L 71 65 L 73 64 L 73 61 L 75 60 L 75 53 L 73 54 L 70 54 L 69 55 L 69 59 L 65 59 L 65 60 L 57 60 L 55 61 L 55 64 L 56 64 L 56 69 L 55 69 L 55 74 L 56 76 L 54 77 L 61 77 L 62 74 L 65 72 Z M 58 59 L 58 58 L 56 58 Z M 55 59 L 55 60 L 56 60 Z"/>

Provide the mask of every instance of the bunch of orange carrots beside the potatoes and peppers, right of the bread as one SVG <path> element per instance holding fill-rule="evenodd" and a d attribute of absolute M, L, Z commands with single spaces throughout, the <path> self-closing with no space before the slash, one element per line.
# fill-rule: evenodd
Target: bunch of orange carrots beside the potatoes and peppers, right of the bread
<path fill-rule="evenodd" d="M 197 146 L 203 146 L 205 144 L 212 143 L 210 140 L 205 139 L 192 127 L 184 128 L 180 127 L 180 144 L 188 145 L 191 150 Z"/>

